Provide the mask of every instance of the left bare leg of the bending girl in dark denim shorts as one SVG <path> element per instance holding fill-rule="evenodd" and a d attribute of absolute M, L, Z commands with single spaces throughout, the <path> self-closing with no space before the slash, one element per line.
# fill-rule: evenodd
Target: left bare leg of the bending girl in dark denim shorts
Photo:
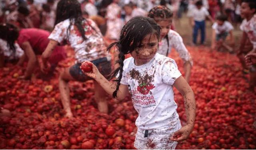
<path fill-rule="evenodd" d="M 68 87 L 68 81 L 74 80 L 74 78 L 70 75 L 69 70 L 70 70 L 70 67 L 65 68 L 65 70 L 60 73 L 59 90 L 60 90 L 61 102 L 64 110 L 66 111 L 66 117 L 71 118 L 73 117 L 73 114 L 70 108 L 70 95 L 69 95 L 70 92 Z"/>

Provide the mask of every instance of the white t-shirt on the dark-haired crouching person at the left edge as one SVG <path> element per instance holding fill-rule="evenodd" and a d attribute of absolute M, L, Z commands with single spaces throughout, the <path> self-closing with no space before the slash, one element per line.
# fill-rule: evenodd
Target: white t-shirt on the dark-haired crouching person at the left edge
<path fill-rule="evenodd" d="M 8 57 L 9 60 L 20 58 L 24 54 L 24 51 L 17 43 L 14 44 L 14 47 L 16 51 L 15 55 L 12 55 L 12 50 L 8 47 L 7 42 L 0 39 L 0 54 L 4 54 L 4 56 Z"/>

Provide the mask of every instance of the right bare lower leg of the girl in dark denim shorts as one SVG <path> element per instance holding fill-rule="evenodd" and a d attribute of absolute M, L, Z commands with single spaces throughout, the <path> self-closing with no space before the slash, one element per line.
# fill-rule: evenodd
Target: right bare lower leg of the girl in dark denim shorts
<path fill-rule="evenodd" d="M 102 113 L 108 113 L 108 102 L 105 90 L 94 80 L 94 99 L 98 105 L 98 110 Z"/>

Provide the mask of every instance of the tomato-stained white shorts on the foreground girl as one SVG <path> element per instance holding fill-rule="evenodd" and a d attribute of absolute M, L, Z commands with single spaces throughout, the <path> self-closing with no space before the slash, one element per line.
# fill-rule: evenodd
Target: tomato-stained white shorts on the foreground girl
<path fill-rule="evenodd" d="M 181 127 L 182 126 L 179 121 L 175 127 L 165 127 L 153 130 L 138 129 L 134 141 L 134 147 L 144 150 L 174 150 L 178 142 L 170 140 L 170 137 Z"/>

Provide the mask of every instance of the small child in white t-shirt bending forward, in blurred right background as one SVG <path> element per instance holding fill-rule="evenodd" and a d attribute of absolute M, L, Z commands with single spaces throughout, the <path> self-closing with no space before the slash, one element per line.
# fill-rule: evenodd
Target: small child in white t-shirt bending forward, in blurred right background
<path fill-rule="evenodd" d="M 233 51 L 234 40 L 233 32 L 234 27 L 227 21 L 226 15 L 219 15 L 216 18 L 216 22 L 212 25 L 212 49 L 220 51 L 221 48 L 227 49 L 229 52 Z M 230 47 L 226 44 L 226 37 L 230 35 Z"/>

